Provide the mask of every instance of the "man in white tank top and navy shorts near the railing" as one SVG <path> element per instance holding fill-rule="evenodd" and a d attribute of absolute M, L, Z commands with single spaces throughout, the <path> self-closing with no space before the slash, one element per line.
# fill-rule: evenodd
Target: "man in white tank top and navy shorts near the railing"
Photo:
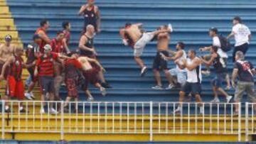
<path fill-rule="evenodd" d="M 202 74 L 201 74 L 201 60 L 199 57 L 196 57 L 195 50 L 188 51 L 187 60 L 183 59 L 182 62 L 176 60 L 175 62 L 178 67 L 181 69 L 186 69 L 187 71 L 187 81 L 186 84 L 181 88 L 181 92 L 179 92 L 179 102 L 178 108 L 174 111 L 174 113 L 182 113 L 182 103 L 186 94 L 191 93 L 196 96 L 196 101 L 200 106 L 200 113 L 203 113 L 203 104 L 201 99 L 201 82 L 202 82 Z"/>

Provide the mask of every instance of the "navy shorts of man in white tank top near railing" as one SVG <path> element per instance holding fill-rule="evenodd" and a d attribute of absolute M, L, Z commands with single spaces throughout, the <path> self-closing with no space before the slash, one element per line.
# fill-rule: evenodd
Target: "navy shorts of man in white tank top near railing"
<path fill-rule="evenodd" d="M 201 84 L 186 82 L 186 84 L 181 87 L 181 91 L 185 92 L 186 94 L 191 93 L 192 95 L 201 94 Z"/>

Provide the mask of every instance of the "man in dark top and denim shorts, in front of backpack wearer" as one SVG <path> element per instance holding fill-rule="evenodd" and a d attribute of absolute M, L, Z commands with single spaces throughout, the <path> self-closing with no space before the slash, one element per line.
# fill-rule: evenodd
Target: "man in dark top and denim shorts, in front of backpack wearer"
<path fill-rule="evenodd" d="M 213 102 L 213 103 L 220 102 L 220 100 L 218 99 L 218 92 L 220 92 L 220 94 L 223 94 L 225 96 L 227 102 L 229 103 L 230 100 L 232 99 L 232 96 L 229 96 L 228 93 L 225 92 L 224 89 L 222 88 L 222 83 L 228 72 L 227 65 L 225 63 L 225 60 L 223 60 L 223 57 L 220 57 L 220 55 L 218 54 L 217 46 L 212 46 L 210 49 L 210 52 L 211 52 L 210 60 L 206 61 L 203 58 L 201 58 L 202 62 L 206 66 L 213 65 L 216 73 L 216 77 L 212 81 L 214 99 L 210 102 Z"/>

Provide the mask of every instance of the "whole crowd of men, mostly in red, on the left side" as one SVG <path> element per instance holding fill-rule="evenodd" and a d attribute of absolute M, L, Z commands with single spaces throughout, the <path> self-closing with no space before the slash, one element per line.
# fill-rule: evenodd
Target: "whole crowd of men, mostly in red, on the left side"
<path fill-rule="evenodd" d="M 63 29 L 56 33 L 56 37 L 50 39 L 47 31 L 50 27 L 48 20 L 44 19 L 40 27 L 33 35 L 33 41 L 23 50 L 22 47 L 11 43 L 11 35 L 6 35 L 5 43 L 0 45 L 0 80 L 6 81 L 6 94 L 2 99 L 12 98 L 36 99 L 33 96 L 33 88 L 38 83 L 41 88 L 41 100 L 60 100 L 60 87 L 64 84 L 68 90 L 65 99 L 64 110 L 68 111 L 68 103 L 71 99 L 78 101 L 78 91 L 82 89 L 87 95 L 88 101 L 94 98 L 88 89 L 92 84 L 100 90 L 102 96 L 107 94 L 106 89 L 111 88 L 104 77 L 105 69 L 97 60 L 97 52 L 93 38 L 100 33 L 100 11 L 94 5 L 93 0 L 88 0 L 78 13 L 84 16 L 85 24 L 80 36 L 78 50 L 70 51 L 71 23 L 64 21 Z M 23 53 L 26 53 L 26 62 L 23 61 Z M 27 91 L 22 80 L 23 68 L 29 72 L 26 80 Z M 55 107 L 49 103 L 49 113 L 58 113 L 60 106 Z M 45 113 L 43 104 L 40 113 Z M 75 106 L 75 111 L 78 111 Z M 26 112 L 22 103 L 18 109 Z M 10 112 L 8 101 L 5 103 L 5 111 Z"/>

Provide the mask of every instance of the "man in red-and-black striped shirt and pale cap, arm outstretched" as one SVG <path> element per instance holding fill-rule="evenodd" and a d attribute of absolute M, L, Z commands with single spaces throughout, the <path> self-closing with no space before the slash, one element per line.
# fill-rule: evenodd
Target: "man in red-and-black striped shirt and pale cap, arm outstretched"
<path fill-rule="evenodd" d="M 68 58 L 64 55 L 60 55 L 58 53 L 52 52 L 52 48 L 50 45 L 44 46 L 44 54 L 38 58 L 36 62 L 36 68 L 34 72 L 34 76 L 36 77 L 38 75 L 39 82 L 41 85 L 41 100 L 45 100 L 46 94 L 49 95 L 50 101 L 54 101 L 54 82 L 53 82 L 53 75 L 54 75 L 54 68 L 53 68 L 53 61 L 60 60 L 60 58 Z M 42 106 L 41 113 L 45 113 L 44 108 Z M 58 113 L 55 109 L 53 109 L 53 103 L 50 103 L 50 113 Z"/>

